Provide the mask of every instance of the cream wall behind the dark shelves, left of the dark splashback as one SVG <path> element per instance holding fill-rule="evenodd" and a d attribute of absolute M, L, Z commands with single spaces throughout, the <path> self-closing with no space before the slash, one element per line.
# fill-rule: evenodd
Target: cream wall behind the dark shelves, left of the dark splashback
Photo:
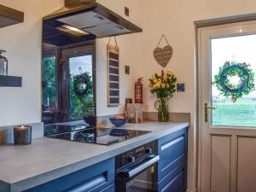
<path fill-rule="evenodd" d="M 22 76 L 22 88 L 0 88 L 0 126 L 41 121 L 42 17 L 61 7 L 61 0 L 1 0 L 25 12 L 25 22 L 0 29 L 0 49 L 6 49 L 9 75 Z"/>

